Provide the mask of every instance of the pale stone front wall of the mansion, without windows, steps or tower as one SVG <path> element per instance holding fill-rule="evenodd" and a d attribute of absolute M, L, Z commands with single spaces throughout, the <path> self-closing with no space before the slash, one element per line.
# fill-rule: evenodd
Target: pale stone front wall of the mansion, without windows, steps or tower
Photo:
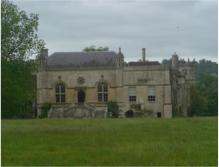
<path fill-rule="evenodd" d="M 84 83 L 78 83 L 78 78 L 83 77 Z M 66 86 L 66 104 L 77 103 L 77 92 L 84 89 L 85 101 L 88 104 L 98 103 L 97 83 L 103 79 L 108 83 L 108 101 L 118 102 L 122 111 L 130 109 L 128 87 L 136 87 L 137 102 L 143 108 L 153 110 L 154 116 L 161 112 L 162 116 L 170 117 L 171 85 L 170 72 L 162 65 L 125 67 L 120 69 L 101 70 L 63 70 L 44 71 L 37 74 L 37 103 L 44 102 L 55 104 L 55 85 L 63 82 Z M 153 86 L 156 90 L 156 101 L 148 102 L 148 88 Z M 164 113 L 165 112 L 165 113 Z"/>

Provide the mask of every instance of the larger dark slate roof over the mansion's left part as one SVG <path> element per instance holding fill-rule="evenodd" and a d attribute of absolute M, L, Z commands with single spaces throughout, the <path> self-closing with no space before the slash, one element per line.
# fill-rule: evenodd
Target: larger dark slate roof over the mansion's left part
<path fill-rule="evenodd" d="M 47 59 L 49 68 L 115 66 L 116 52 L 55 52 Z"/>

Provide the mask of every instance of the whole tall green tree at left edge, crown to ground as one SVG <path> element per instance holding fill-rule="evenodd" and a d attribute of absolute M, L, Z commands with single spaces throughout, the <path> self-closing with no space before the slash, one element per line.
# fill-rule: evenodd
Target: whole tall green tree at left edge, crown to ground
<path fill-rule="evenodd" d="M 35 61 L 44 41 L 37 36 L 38 15 L 26 14 L 8 0 L 1 1 L 2 117 L 27 117 L 32 108 Z"/>

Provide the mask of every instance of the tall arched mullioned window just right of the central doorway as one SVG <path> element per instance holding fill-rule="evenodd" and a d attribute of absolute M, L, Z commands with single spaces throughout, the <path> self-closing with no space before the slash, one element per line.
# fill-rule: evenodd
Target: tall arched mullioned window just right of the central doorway
<path fill-rule="evenodd" d="M 108 85 L 107 83 L 100 82 L 97 86 L 98 101 L 107 102 L 108 101 Z"/>

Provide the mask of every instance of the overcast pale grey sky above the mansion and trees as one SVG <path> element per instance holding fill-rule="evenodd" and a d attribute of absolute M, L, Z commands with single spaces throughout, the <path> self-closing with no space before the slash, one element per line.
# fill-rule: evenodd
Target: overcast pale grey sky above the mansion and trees
<path fill-rule="evenodd" d="M 49 54 L 90 45 L 122 48 L 125 60 L 179 57 L 217 61 L 217 0 L 14 0 L 39 14 Z"/>

